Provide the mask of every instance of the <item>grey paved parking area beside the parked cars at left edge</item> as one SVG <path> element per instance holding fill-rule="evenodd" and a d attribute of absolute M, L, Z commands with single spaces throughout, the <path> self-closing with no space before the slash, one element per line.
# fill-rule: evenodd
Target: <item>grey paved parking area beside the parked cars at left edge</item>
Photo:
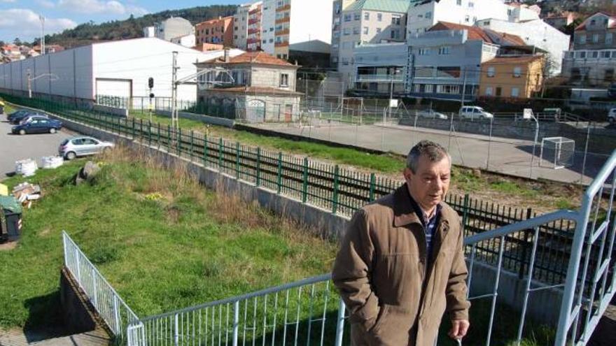
<path fill-rule="evenodd" d="M 38 166 L 41 166 L 41 157 L 57 155 L 59 143 L 73 136 L 66 130 L 57 134 L 18 136 L 10 134 L 11 127 L 6 115 L 0 115 L 0 180 L 15 171 L 15 161 L 20 159 L 36 159 Z"/>

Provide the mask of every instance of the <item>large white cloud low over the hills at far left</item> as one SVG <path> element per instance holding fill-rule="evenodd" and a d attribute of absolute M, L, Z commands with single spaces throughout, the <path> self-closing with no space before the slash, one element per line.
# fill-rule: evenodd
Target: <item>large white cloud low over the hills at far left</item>
<path fill-rule="evenodd" d="M 76 25 L 76 22 L 67 18 L 45 17 L 45 34 L 54 34 L 76 27 Z M 38 13 L 26 8 L 0 10 L 0 31 L 22 39 L 36 37 L 41 35 L 41 21 L 38 19 Z"/>

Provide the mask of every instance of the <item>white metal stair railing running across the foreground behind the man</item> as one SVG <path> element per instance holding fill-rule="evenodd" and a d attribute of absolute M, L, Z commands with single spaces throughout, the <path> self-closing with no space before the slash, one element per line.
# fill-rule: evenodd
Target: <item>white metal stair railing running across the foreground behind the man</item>
<path fill-rule="evenodd" d="M 616 151 L 603 166 L 596 180 L 584 194 L 579 211 L 559 210 L 527 219 L 491 231 L 467 236 L 464 240 L 468 261 L 468 287 L 471 301 L 487 301 L 489 320 L 475 326 L 482 329 L 484 342 L 491 345 L 499 291 L 507 274 L 505 262 L 517 253 L 520 240 L 531 244 L 524 249 L 528 268 L 521 277 L 524 289 L 516 299 L 521 301 L 518 315 L 507 312 L 507 320 L 517 329 L 510 336 L 498 335 L 502 340 L 518 344 L 528 326 L 529 298 L 538 291 L 556 289 L 563 292 L 558 329 L 554 346 L 586 345 L 603 312 L 615 294 L 616 270 L 612 260 L 615 242 L 615 223 L 612 213 L 616 178 Z M 564 282 L 545 285 L 535 275 L 535 259 L 550 256 L 553 247 L 542 244 L 554 241 L 540 227 L 571 220 L 576 223 L 570 247 L 568 275 Z M 526 253 L 528 250 L 528 253 Z M 255 291 L 242 296 L 196 305 L 162 315 L 137 319 L 102 275 L 87 261 L 83 253 L 64 233 L 65 265 L 86 291 L 90 300 L 127 345 L 335 345 L 343 343 L 345 319 L 344 303 L 333 289 L 331 275 L 325 274 L 290 284 Z M 491 275 L 482 272 L 477 289 L 475 273 L 489 264 Z M 510 279 L 508 279 L 510 280 Z M 486 284 L 486 281 L 488 284 Z M 486 287 L 488 287 L 486 289 Z M 502 312 L 501 312 L 502 313 Z M 124 316 L 124 317 L 123 317 Z M 556 318 L 554 318 L 556 319 Z M 555 322 L 555 321 L 554 321 Z M 124 331 L 120 330 L 124 329 Z M 476 343 L 476 341 L 475 341 Z M 479 345 L 479 344 L 477 344 Z"/>

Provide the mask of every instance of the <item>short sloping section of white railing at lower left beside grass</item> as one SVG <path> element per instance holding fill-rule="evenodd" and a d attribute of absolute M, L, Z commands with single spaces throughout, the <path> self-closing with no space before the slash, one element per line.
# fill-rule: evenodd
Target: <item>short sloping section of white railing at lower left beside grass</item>
<path fill-rule="evenodd" d="M 139 321 L 139 318 L 65 231 L 62 231 L 62 243 L 64 243 L 64 266 L 73 275 L 114 336 L 120 343 L 126 342 L 127 327 Z"/>

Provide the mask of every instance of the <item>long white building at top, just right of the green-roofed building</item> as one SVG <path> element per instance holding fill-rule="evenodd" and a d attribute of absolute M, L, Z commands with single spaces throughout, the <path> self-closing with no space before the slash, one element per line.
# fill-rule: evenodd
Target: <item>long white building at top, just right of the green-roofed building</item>
<path fill-rule="evenodd" d="M 411 3 L 408 9 L 407 32 L 427 31 L 437 22 L 473 25 L 477 20 L 497 19 L 508 22 L 539 19 L 536 8 L 508 5 L 502 0 L 440 0 Z"/>

